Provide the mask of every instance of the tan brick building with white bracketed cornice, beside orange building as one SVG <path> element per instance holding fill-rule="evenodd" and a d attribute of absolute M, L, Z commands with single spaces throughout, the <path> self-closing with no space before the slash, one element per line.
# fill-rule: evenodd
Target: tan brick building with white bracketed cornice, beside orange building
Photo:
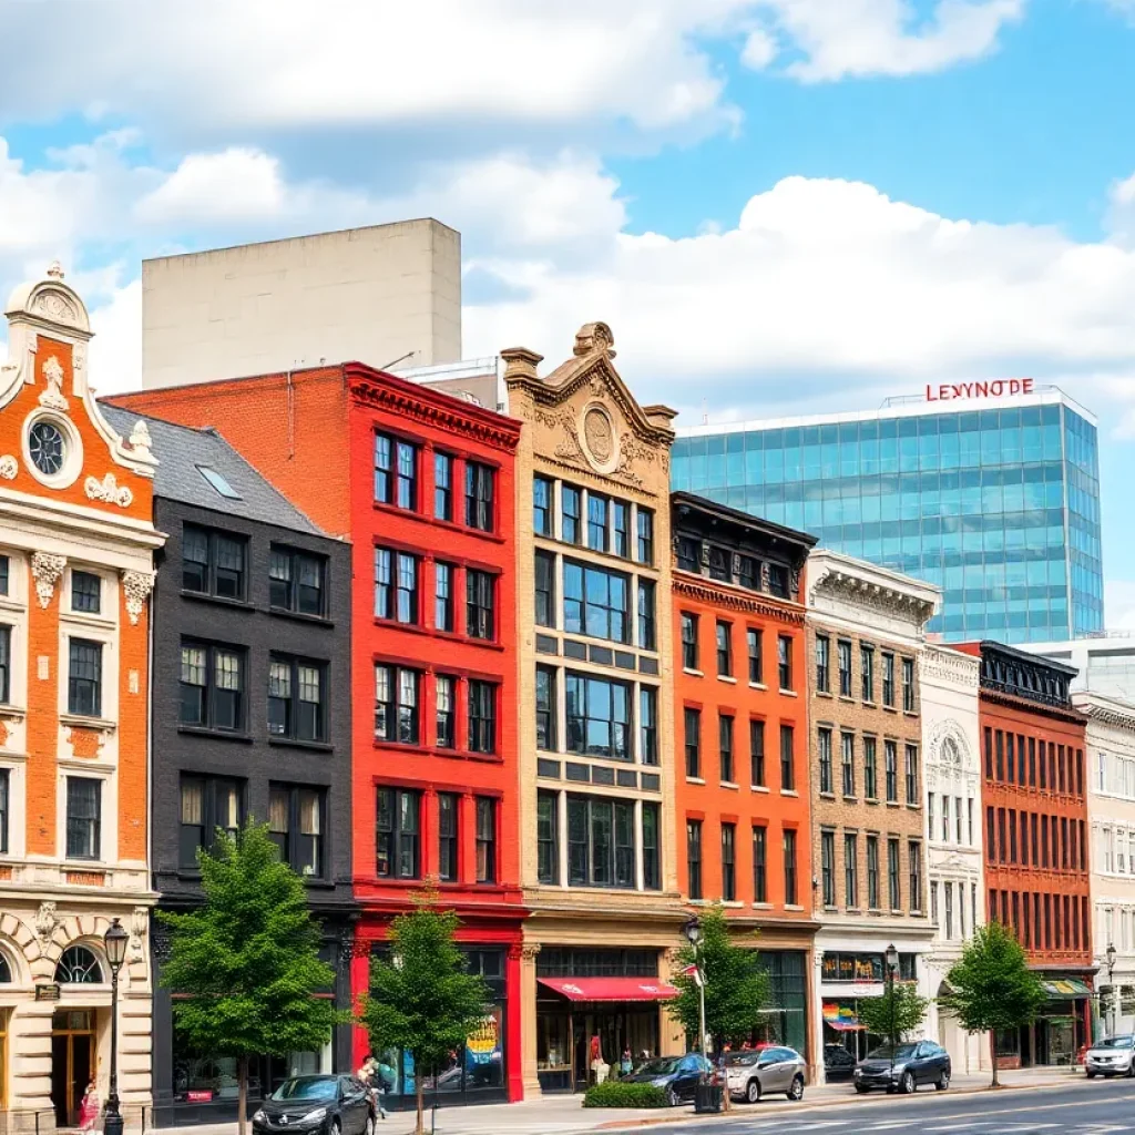
<path fill-rule="evenodd" d="M 899 978 L 928 987 L 923 725 L 924 628 L 939 591 L 834 552 L 808 560 L 813 908 L 825 1044 L 861 1056 L 858 1004 Z"/>

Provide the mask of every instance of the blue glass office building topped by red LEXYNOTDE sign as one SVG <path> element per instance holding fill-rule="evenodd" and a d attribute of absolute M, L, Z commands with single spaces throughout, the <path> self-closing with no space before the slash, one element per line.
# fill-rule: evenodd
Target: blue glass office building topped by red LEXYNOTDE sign
<path fill-rule="evenodd" d="M 1060 390 L 678 432 L 675 489 L 936 583 L 948 641 L 1103 627 L 1096 423 Z"/>

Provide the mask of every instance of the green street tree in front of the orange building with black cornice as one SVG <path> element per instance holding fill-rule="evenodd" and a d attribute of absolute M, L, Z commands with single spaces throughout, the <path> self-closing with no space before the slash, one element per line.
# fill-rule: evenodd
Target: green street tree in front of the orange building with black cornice
<path fill-rule="evenodd" d="M 701 941 L 697 950 L 683 947 L 678 952 L 680 970 L 699 965 L 705 978 L 706 1032 L 714 1048 L 746 1040 L 765 1022 L 762 1010 L 768 1003 L 768 974 L 760 966 L 753 947 L 738 945 L 730 933 L 729 919 L 721 907 L 709 907 L 701 915 Z M 756 940 L 756 932 L 747 935 Z M 698 986 L 692 976 L 679 970 L 673 977 L 678 997 L 669 1009 L 695 1036 L 698 1033 Z M 700 1045 L 699 1045 L 700 1048 Z"/>

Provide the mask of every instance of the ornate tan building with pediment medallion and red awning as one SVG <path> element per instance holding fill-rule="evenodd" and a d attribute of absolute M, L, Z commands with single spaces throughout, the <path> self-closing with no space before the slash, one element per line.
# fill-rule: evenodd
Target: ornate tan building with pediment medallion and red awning
<path fill-rule="evenodd" d="M 503 352 L 516 454 L 526 1095 L 596 1057 L 681 1051 L 659 1007 L 684 920 L 674 841 L 670 446 L 605 323 L 562 365 Z"/>

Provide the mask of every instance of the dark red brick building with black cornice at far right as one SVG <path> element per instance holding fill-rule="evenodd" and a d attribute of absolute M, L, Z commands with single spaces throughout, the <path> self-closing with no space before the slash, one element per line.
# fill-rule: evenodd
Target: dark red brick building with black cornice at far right
<path fill-rule="evenodd" d="M 959 649 L 982 661 L 982 806 L 990 919 L 1011 926 L 1050 1000 L 1036 1023 L 997 1039 L 999 1058 L 1065 1062 L 1091 1040 L 1085 716 L 1076 671 L 1000 642 Z"/>

